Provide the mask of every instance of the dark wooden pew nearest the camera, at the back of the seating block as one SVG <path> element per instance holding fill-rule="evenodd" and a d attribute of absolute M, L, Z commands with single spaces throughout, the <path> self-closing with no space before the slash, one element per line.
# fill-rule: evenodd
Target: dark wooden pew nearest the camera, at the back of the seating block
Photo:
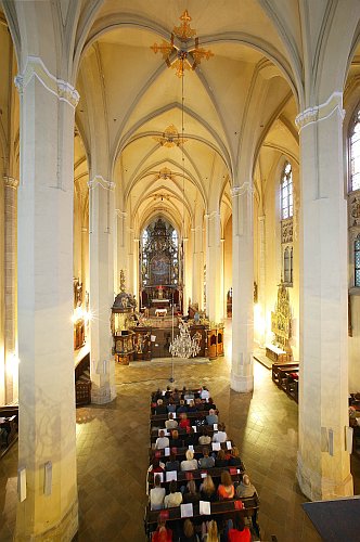
<path fill-rule="evenodd" d="M 257 514 L 259 509 L 259 503 L 258 499 L 256 495 L 252 498 L 246 498 L 242 499 L 241 502 L 244 505 L 244 508 L 239 509 L 236 506 L 236 502 L 239 503 L 239 499 L 232 499 L 229 501 L 217 501 L 210 503 L 210 517 L 211 519 L 216 520 L 221 520 L 221 519 L 234 519 L 236 515 L 242 516 L 243 518 L 249 518 L 252 519 L 253 527 L 256 531 L 256 533 L 259 535 L 260 533 L 260 528 L 257 522 Z M 193 517 L 191 517 L 191 520 L 195 525 L 201 525 L 203 521 L 206 519 L 209 519 L 209 516 L 204 516 L 200 514 L 200 505 L 197 503 L 193 504 Z M 147 537 L 147 540 L 151 540 L 152 532 L 156 530 L 157 526 L 157 520 L 158 516 L 162 514 L 164 519 L 166 519 L 166 522 L 168 527 L 173 530 L 173 527 L 171 527 L 171 524 L 175 521 L 183 521 L 181 518 L 181 508 L 180 506 L 176 506 L 173 508 L 166 508 L 163 511 L 151 511 L 150 506 L 147 505 L 145 508 L 145 518 L 144 518 L 144 525 L 145 525 L 145 533 Z"/>

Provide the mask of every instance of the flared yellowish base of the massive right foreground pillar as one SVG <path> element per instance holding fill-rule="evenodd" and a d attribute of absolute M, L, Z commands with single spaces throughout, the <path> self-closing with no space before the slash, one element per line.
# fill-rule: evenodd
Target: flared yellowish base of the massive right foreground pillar
<path fill-rule="evenodd" d="M 351 474 L 342 481 L 321 476 L 304 465 L 299 451 L 297 452 L 296 477 L 300 490 L 310 501 L 326 501 L 353 495 Z"/>

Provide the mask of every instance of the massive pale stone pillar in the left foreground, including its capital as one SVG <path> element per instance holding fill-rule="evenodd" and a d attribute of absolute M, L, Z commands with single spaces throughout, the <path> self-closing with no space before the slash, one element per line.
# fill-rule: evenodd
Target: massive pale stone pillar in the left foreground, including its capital
<path fill-rule="evenodd" d="M 77 532 L 73 341 L 74 109 L 79 95 L 29 56 L 21 95 L 18 487 L 14 540 Z M 47 473 L 47 478 L 46 478 Z M 47 481 L 47 483 L 46 483 Z"/>

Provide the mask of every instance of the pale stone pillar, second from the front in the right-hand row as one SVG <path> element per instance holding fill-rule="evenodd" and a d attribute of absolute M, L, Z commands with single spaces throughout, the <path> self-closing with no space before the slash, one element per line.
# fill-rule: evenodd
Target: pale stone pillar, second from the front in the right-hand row
<path fill-rule="evenodd" d="M 232 193 L 232 366 L 230 386 L 252 391 L 254 346 L 254 224 L 249 182 Z"/>

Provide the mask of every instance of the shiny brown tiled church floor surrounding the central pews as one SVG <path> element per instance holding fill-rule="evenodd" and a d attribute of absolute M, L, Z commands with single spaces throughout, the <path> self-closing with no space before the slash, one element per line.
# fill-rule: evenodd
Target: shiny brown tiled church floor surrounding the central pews
<path fill-rule="evenodd" d="M 229 339 L 229 338 L 228 338 Z M 254 393 L 230 390 L 230 359 L 175 362 L 175 385 L 206 384 L 228 434 L 239 443 L 260 496 L 262 540 L 320 541 L 300 504 L 295 476 L 297 404 L 280 391 L 270 372 L 255 362 Z M 149 398 L 165 387 L 171 367 L 139 363 L 116 366 L 117 399 L 77 410 L 80 542 L 142 542 L 149 447 Z M 15 521 L 17 447 L 0 462 L 0 540 L 12 540 Z M 359 460 L 355 460 L 356 490 Z"/>

